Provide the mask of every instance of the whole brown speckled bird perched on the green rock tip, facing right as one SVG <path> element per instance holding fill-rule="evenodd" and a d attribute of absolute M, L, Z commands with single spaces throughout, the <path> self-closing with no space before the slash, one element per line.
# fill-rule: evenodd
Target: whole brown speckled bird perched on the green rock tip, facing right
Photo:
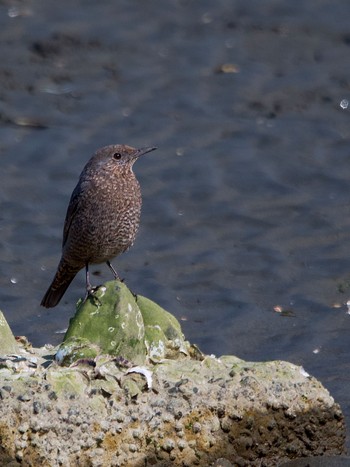
<path fill-rule="evenodd" d="M 120 280 L 111 259 L 133 245 L 140 224 L 142 197 L 133 165 L 140 156 L 155 149 L 113 144 L 98 149 L 85 165 L 69 201 L 62 256 L 41 301 L 43 307 L 56 306 L 83 268 L 86 300 L 94 290 L 90 264 L 106 263 L 114 278 Z"/>

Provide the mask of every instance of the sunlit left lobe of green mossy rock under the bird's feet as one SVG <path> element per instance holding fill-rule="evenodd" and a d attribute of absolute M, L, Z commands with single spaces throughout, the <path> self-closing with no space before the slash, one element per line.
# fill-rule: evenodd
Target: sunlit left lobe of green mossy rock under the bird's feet
<path fill-rule="evenodd" d="M 108 354 L 142 364 L 147 356 L 144 337 L 143 318 L 133 294 L 122 282 L 107 282 L 85 302 L 78 302 L 56 360 L 69 365 Z"/>

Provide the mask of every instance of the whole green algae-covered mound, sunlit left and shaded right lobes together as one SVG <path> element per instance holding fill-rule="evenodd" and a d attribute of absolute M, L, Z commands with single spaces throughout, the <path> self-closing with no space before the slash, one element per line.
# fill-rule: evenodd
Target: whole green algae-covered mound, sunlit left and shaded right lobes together
<path fill-rule="evenodd" d="M 134 296 L 125 284 L 110 281 L 79 301 L 56 354 L 63 365 L 107 354 L 140 365 L 189 355 L 179 322 L 146 297 Z"/>

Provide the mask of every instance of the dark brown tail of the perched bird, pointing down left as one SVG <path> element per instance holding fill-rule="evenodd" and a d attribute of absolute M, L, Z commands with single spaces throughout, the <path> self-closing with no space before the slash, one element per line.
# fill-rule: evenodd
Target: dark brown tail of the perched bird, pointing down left
<path fill-rule="evenodd" d="M 55 277 L 44 295 L 44 298 L 41 300 L 41 306 L 45 308 L 56 306 L 80 269 L 81 268 L 73 268 L 71 265 L 61 260 Z"/>

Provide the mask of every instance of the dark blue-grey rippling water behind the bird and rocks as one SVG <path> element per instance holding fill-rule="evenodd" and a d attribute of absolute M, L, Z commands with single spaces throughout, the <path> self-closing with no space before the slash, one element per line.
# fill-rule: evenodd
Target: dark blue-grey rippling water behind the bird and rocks
<path fill-rule="evenodd" d="M 349 419 L 349 17 L 347 0 L 1 2 L 0 307 L 15 334 L 58 343 L 84 292 L 80 273 L 39 306 L 90 155 L 157 145 L 135 166 L 142 228 L 120 275 L 206 353 L 303 365 Z"/>

